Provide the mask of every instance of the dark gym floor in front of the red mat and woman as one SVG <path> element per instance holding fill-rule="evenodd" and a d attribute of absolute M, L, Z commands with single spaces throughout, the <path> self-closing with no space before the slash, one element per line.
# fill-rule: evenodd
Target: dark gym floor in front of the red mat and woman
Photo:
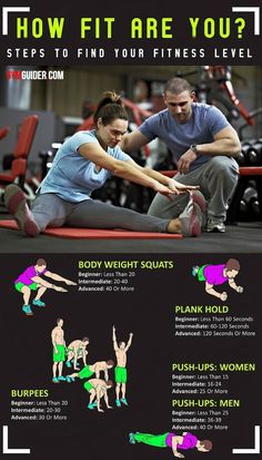
<path fill-rule="evenodd" d="M 0 219 L 10 219 L 0 214 Z M 203 233 L 183 239 L 69 239 L 23 236 L 0 228 L 0 253 L 262 253 L 262 222 L 226 226 L 224 234 Z"/>

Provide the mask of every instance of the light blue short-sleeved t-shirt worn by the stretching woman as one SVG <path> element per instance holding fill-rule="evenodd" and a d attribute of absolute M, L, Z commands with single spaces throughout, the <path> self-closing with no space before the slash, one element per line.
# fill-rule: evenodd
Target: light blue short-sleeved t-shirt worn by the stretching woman
<path fill-rule="evenodd" d="M 79 154 L 81 145 L 99 144 L 95 131 L 79 131 L 59 148 L 52 167 L 40 185 L 39 193 L 53 193 L 70 203 L 79 203 L 89 199 L 91 193 L 103 186 L 112 176 L 107 169 L 95 170 L 95 165 Z M 120 147 L 110 148 L 108 155 L 123 162 L 131 160 Z"/>

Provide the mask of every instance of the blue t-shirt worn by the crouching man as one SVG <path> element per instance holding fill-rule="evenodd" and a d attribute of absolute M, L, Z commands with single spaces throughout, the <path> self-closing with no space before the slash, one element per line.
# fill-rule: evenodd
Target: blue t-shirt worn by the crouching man
<path fill-rule="evenodd" d="M 139 130 L 149 141 L 159 137 L 173 154 L 175 164 L 192 144 L 210 144 L 213 136 L 221 129 L 230 126 L 225 116 L 214 106 L 206 104 L 192 104 L 192 115 L 184 124 L 179 124 L 169 109 L 148 118 Z M 190 170 L 198 168 L 211 159 L 208 155 L 200 155 L 192 164 Z"/>

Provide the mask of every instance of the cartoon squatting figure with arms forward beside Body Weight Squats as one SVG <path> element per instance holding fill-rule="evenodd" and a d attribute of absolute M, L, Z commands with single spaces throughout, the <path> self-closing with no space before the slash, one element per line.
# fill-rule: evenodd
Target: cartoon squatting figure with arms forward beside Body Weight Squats
<path fill-rule="evenodd" d="M 19 277 L 14 281 L 16 290 L 23 296 L 22 311 L 28 316 L 31 316 L 33 314 L 30 305 L 32 291 L 34 291 L 37 294 L 34 300 L 32 301 L 32 304 L 36 306 L 46 306 L 46 303 L 40 298 L 48 288 L 58 292 L 67 292 L 67 290 L 64 290 L 63 287 L 57 286 L 56 284 L 46 281 L 42 275 L 54 281 L 61 281 L 67 285 L 77 285 L 77 283 L 74 283 L 73 281 L 67 280 L 56 273 L 50 272 L 47 268 L 47 262 L 44 261 L 44 258 L 39 258 L 36 265 L 26 268 L 24 272 L 22 272 L 21 275 L 19 275 Z"/>

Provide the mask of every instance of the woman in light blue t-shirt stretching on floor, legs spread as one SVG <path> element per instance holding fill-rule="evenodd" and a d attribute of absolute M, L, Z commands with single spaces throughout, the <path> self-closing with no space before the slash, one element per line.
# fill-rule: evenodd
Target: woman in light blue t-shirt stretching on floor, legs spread
<path fill-rule="evenodd" d="M 142 168 L 118 146 L 128 128 L 120 96 L 104 92 L 93 118 L 94 130 L 79 131 L 60 147 L 31 211 L 17 185 L 6 188 L 4 203 L 19 228 L 29 236 L 47 227 L 64 225 L 199 236 L 205 200 L 195 190 L 198 187 L 184 186 L 153 169 Z M 162 219 L 92 199 L 91 193 L 112 175 L 153 188 L 167 195 L 167 199 L 191 190 L 188 205 L 179 218 Z"/>

